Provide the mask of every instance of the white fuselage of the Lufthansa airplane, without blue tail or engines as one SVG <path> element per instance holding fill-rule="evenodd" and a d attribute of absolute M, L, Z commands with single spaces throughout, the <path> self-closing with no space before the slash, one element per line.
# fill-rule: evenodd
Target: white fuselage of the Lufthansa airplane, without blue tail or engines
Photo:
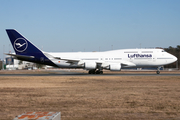
<path fill-rule="evenodd" d="M 115 63 L 121 64 L 121 68 L 158 67 L 173 63 L 177 60 L 175 56 L 165 52 L 163 49 L 122 49 L 105 52 L 64 52 L 48 54 L 61 58 L 59 60 L 51 60 L 62 68 L 83 68 L 84 66 L 81 63 L 86 62 L 101 63 L 102 67 Z"/>

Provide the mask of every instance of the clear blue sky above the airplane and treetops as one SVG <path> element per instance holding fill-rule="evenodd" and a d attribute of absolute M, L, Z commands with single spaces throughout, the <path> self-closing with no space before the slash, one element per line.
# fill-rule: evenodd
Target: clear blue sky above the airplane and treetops
<path fill-rule="evenodd" d="M 0 58 L 16 29 L 46 52 L 180 45 L 180 0 L 1 0 Z"/>

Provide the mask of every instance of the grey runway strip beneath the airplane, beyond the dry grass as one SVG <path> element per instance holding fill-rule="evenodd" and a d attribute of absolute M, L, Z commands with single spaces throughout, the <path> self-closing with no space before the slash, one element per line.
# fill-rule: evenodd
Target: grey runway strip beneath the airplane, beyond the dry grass
<path fill-rule="evenodd" d="M 105 72 L 104 74 L 88 74 L 87 72 L 77 72 L 77 71 L 45 71 L 45 72 L 0 72 L 0 76 L 180 76 L 180 72 L 161 72 L 161 74 L 156 74 L 155 72 Z"/>

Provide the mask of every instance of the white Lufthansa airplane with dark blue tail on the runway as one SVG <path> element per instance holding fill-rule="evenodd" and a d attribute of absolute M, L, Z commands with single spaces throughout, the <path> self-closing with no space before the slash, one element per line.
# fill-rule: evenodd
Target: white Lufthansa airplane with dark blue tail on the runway
<path fill-rule="evenodd" d="M 104 52 L 45 52 L 33 45 L 14 29 L 6 29 L 15 59 L 58 68 L 83 68 L 89 74 L 103 74 L 103 69 L 121 71 L 123 68 L 160 67 L 177 61 L 163 49 L 120 49 Z"/>

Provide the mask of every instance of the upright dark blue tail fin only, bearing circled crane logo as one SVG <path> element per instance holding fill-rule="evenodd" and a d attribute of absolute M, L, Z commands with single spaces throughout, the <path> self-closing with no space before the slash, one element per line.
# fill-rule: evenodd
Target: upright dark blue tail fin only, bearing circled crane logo
<path fill-rule="evenodd" d="M 6 29 L 6 32 L 11 40 L 14 51 L 18 55 L 32 56 L 37 53 L 42 53 L 36 46 L 29 42 L 25 37 L 14 29 Z"/>

